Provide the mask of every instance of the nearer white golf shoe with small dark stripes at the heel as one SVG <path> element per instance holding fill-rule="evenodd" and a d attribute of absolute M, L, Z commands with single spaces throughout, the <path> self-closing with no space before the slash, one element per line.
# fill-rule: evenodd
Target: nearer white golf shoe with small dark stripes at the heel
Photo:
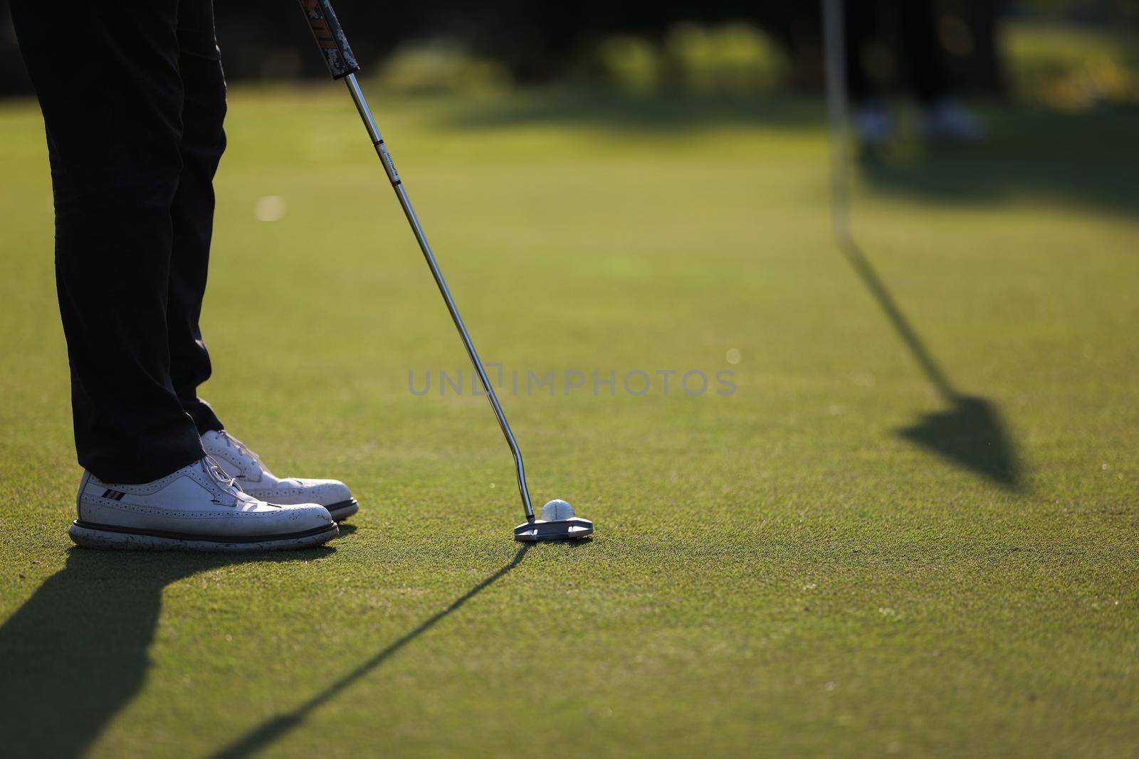
<path fill-rule="evenodd" d="M 339 533 L 323 506 L 260 501 L 208 456 L 142 485 L 85 472 L 76 505 L 67 533 L 92 548 L 269 551 L 321 545 Z"/>

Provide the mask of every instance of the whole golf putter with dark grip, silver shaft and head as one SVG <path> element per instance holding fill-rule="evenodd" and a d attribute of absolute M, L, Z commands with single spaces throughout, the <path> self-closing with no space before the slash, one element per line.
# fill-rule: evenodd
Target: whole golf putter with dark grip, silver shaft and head
<path fill-rule="evenodd" d="M 555 518 L 555 519 L 536 519 L 534 517 L 534 508 L 530 503 L 530 490 L 526 488 L 526 472 L 522 465 L 522 452 L 518 449 L 518 444 L 514 439 L 514 432 L 510 431 L 510 424 L 506 421 L 506 414 L 502 413 L 502 406 L 499 404 L 498 396 L 494 395 L 494 387 L 491 385 L 490 379 L 486 377 L 486 370 L 483 369 L 483 362 L 478 358 L 478 354 L 475 352 L 475 345 L 470 341 L 470 335 L 467 333 L 467 328 L 462 323 L 462 317 L 459 316 L 459 310 L 454 306 L 454 300 L 451 298 L 451 291 L 446 287 L 446 282 L 443 280 L 443 273 L 439 269 L 439 264 L 435 263 L 435 256 L 431 250 L 431 246 L 427 245 L 427 238 L 424 234 L 423 228 L 419 225 L 419 218 L 416 216 L 415 209 L 411 207 L 411 201 L 408 199 L 408 193 L 403 189 L 403 182 L 400 180 L 400 175 L 395 171 L 395 165 L 392 163 L 392 156 L 387 151 L 387 147 L 384 145 L 384 138 L 379 134 L 379 127 L 376 126 L 376 119 L 371 115 L 371 109 L 368 107 L 368 102 L 364 100 L 363 92 L 360 90 L 360 83 L 357 81 L 357 72 L 360 71 L 360 65 L 357 63 L 355 56 L 352 55 L 352 48 L 349 47 L 347 38 L 344 36 L 344 31 L 341 28 L 339 22 L 336 19 L 336 14 L 333 11 L 333 6 L 329 0 L 316 0 L 313 7 L 309 7 L 306 0 L 300 0 L 301 9 L 304 11 L 305 18 L 309 20 L 309 26 L 312 28 L 312 35 L 317 40 L 317 44 L 320 47 L 320 51 L 325 57 L 325 63 L 328 65 L 328 71 L 333 75 L 334 80 L 344 80 L 344 83 L 349 88 L 349 94 L 352 96 L 352 102 L 355 104 L 357 110 L 360 112 L 360 118 L 363 121 L 364 129 L 368 130 L 368 137 L 371 138 L 371 143 L 376 148 L 376 154 L 379 156 L 379 162 L 384 165 L 384 172 L 387 174 L 387 180 L 392 183 L 392 189 L 395 190 L 395 197 L 400 201 L 400 206 L 403 208 L 403 214 L 408 217 L 408 223 L 411 225 L 411 232 L 416 236 L 416 242 L 419 244 L 419 249 L 423 250 L 424 258 L 427 261 L 427 266 L 431 267 L 432 277 L 435 278 L 435 284 L 439 286 L 440 295 L 443 296 L 443 302 L 446 304 L 446 310 L 451 314 L 451 321 L 454 322 L 454 328 L 459 331 L 459 337 L 462 338 L 462 346 L 467 349 L 467 355 L 470 357 L 470 363 L 478 374 L 478 381 L 483 386 L 483 390 L 486 393 L 486 398 L 491 403 L 491 409 L 494 410 L 494 416 L 498 419 L 499 427 L 502 429 L 502 435 L 506 437 L 507 445 L 510 446 L 510 453 L 514 455 L 514 469 L 518 478 L 518 494 L 522 496 L 523 511 L 526 514 L 526 521 L 514 528 L 514 537 L 516 541 L 564 541 L 564 539 L 576 539 L 583 538 L 592 534 L 593 522 L 588 519 L 581 519 L 579 517 L 570 515 L 568 518 Z M 550 509 L 556 502 L 550 502 L 547 508 L 542 510 L 543 517 L 547 510 L 550 513 L 562 511 L 560 509 Z M 560 502 L 564 503 L 564 502 Z M 568 504 L 566 504 L 568 508 Z M 571 510 L 572 512 L 572 510 Z M 558 517 L 563 514 L 557 514 Z"/>

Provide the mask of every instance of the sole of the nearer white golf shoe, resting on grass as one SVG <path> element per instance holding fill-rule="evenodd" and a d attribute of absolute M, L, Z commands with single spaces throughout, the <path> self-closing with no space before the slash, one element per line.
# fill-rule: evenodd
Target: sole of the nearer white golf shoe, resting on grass
<path fill-rule="evenodd" d="M 253 535 L 248 537 L 197 536 L 161 530 L 139 530 L 110 525 L 72 522 L 67 535 L 84 548 L 116 551 L 200 551 L 206 553 L 236 553 L 248 551 L 293 551 L 311 548 L 328 543 L 339 535 L 336 522 L 304 533 L 287 535 Z"/>

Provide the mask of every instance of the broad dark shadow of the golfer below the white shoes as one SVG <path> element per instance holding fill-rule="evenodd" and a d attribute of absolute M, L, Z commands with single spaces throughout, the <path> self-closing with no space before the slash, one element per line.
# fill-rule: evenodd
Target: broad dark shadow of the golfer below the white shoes
<path fill-rule="evenodd" d="M 312 560 L 333 548 L 253 554 L 72 548 L 0 627 L 0 734 L 10 757 L 79 757 L 139 692 L 163 589 L 245 561 Z"/>

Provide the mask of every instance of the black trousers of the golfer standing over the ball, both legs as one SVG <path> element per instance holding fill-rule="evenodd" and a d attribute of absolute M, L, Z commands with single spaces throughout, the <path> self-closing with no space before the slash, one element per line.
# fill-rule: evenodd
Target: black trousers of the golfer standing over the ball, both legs
<path fill-rule="evenodd" d="M 47 126 L 79 462 L 146 482 L 222 424 L 198 315 L 226 137 L 212 0 L 14 0 Z"/>

